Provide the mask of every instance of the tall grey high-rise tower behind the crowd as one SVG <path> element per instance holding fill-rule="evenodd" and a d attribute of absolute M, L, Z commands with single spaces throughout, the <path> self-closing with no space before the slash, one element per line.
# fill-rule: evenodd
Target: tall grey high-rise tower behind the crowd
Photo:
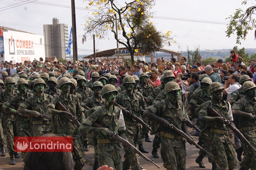
<path fill-rule="evenodd" d="M 44 25 L 45 57 L 69 59 L 66 53 L 69 32 L 67 24 L 59 24 L 59 19 L 53 18 L 52 24 Z"/>

